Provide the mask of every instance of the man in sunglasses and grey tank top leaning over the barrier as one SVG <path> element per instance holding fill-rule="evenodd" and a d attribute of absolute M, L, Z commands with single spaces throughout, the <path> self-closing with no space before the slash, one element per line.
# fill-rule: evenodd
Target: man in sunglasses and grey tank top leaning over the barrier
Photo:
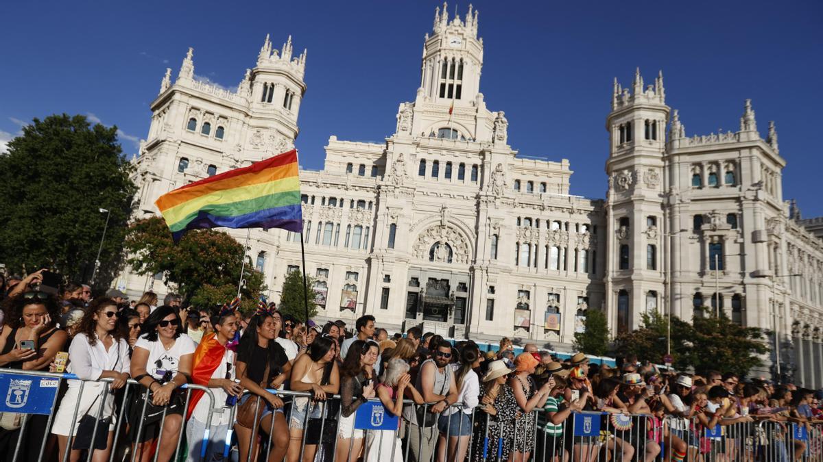
<path fill-rule="evenodd" d="M 434 346 L 434 345 L 432 345 Z M 458 389 L 454 381 L 454 372 L 449 367 L 452 359 L 452 345 L 440 342 L 430 359 L 420 367 L 417 374 L 416 389 L 425 400 L 425 413 L 439 414 L 458 400 Z M 407 398 L 412 398 L 411 392 Z M 409 449 L 410 462 L 431 460 L 437 445 L 438 431 L 434 424 L 437 419 L 427 419 L 416 411 L 418 406 L 404 406 L 403 418 L 407 422 L 406 444 Z M 422 408 L 422 406 L 421 406 Z M 433 420 L 433 421 L 432 421 Z"/>

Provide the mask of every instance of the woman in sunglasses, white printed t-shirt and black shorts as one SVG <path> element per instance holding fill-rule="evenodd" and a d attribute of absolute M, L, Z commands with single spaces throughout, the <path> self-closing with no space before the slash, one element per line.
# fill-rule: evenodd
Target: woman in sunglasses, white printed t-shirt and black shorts
<path fill-rule="evenodd" d="M 159 307 L 146 318 L 145 333 L 134 344 L 132 376 L 150 392 L 142 425 L 139 420 L 143 409 L 142 392 L 132 406 L 137 415 L 129 419 L 133 441 L 137 443 L 135 450 L 143 462 L 152 460 L 151 446 L 155 442 L 157 460 L 163 462 L 170 460 L 177 446 L 183 423 L 184 395 L 176 389 L 188 382 L 195 348 L 188 335 L 180 334 L 180 324 L 180 317 L 173 307 Z M 164 408 L 165 419 L 161 421 Z"/>

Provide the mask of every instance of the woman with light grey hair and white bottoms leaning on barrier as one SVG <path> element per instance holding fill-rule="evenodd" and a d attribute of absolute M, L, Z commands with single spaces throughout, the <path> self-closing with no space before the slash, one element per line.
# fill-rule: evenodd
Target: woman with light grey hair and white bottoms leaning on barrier
<path fill-rule="evenodd" d="M 411 386 L 412 376 L 408 374 L 409 365 L 401 358 L 388 361 L 383 380 L 377 385 L 377 397 L 384 409 L 391 415 L 401 416 L 403 398 L 409 397 L 415 403 L 422 404 L 423 397 Z M 399 428 L 393 430 L 374 430 L 366 436 L 365 460 L 382 460 L 385 462 L 402 462 L 402 441 Z"/>

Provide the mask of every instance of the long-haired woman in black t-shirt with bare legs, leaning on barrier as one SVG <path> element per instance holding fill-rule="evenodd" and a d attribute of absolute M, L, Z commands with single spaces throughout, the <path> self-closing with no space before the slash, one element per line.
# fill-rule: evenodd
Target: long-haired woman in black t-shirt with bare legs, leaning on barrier
<path fill-rule="evenodd" d="M 274 314 L 279 319 L 279 313 Z M 272 439 L 268 460 L 280 462 L 289 448 L 289 428 L 283 415 L 283 401 L 268 391 L 283 385 L 291 376 L 291 363 L 286 351 L 275 341 L 277 331 L 272 313 L 258 308 L 240 338 L 237 377 L 249 393 L 239 401 L 237 410 L 235 432 L 239 460 L 248 460 L 249 449 L 254 455 L 258 453 L 258 440 L 252 439 L 258 429 Z M 250 409 L 250 419 L 244 418 L 246 408 Z"/>

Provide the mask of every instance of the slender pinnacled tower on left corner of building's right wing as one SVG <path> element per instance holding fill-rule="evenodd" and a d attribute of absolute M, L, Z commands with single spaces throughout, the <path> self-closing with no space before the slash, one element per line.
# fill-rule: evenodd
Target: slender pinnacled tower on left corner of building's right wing
<path fill-rule="evenodd" d="M 669 108 L 663 72 L 631 88 L 615 79 L 607 116 L 607 315 L 613 334 L 635 329 L 644 312 L 663 312 L 663 179 Z"/>

